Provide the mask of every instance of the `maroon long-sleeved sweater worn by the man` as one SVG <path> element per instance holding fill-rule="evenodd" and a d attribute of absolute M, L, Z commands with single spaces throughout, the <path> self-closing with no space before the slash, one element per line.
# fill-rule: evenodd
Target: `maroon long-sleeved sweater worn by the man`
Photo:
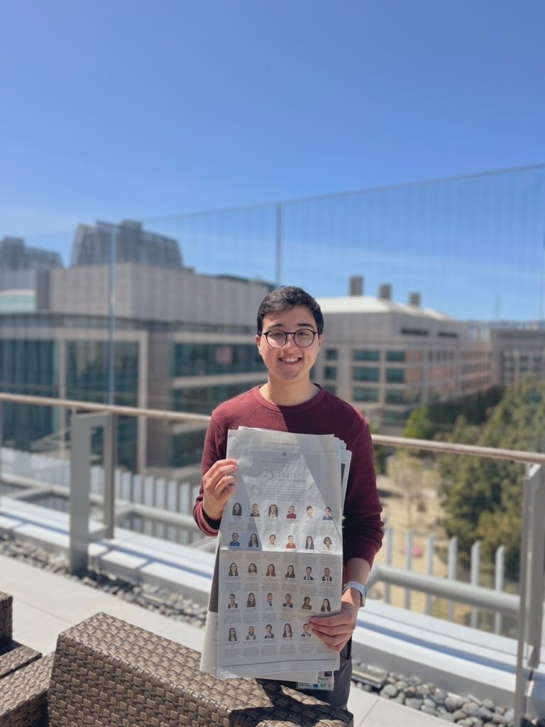
<path fill-rule="evenodd" d="M 218 459 L 225 459 L 227 431 L 260 427 L 299 434 L 334 434 L 352 452 L 344 501 L 343 554 L 365 558 L 373 565 L 382 544 L 382 507 L 376 491 L 373 442 L 366 419 L 353 406 L 320 388 L 317 395 L 297 406 L 267 401 L 259 386 L 225 401 L 212 412 L 203 449 L 203 474 Z M 205 535 L 216 535 L 220 521 L 203 511 L 203 486 L 193 508 L 195 522 Z"/>

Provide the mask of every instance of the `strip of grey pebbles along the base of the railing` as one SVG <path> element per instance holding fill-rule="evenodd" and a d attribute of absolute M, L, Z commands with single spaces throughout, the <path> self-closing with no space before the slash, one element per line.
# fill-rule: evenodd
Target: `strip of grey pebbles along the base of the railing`
<path fill-rule="evenodd" d="M 31 542 L 17 540 L 9 535 L 0 536 L 0 555 L 16 558 L 31 566 L 60 574 L 92 588 L 123 598 L 150 611 L 157 611 L 171 619 L 203 627 L 206 606 L 201 606 L 179 593 L 171 593 L 157 586 L 134 583 L 99 571 L 87 571 L 83 576 L 68 573 L 61 555 L 55 555 Z M 404 704 L 413 710 L 434 715 L 460 727 L 514 727 L 512 708 L 496 704 L 492 699 L 478 699 L 472 694 L 459 696 L 424 682 L 416 676 L 387 672 L 370 664 L 354 662 L 353 683 L 356 688 L 379 694 L 384 699 Z M 527 723 L 528 727 L 545 727 L 545 720 Z"/>

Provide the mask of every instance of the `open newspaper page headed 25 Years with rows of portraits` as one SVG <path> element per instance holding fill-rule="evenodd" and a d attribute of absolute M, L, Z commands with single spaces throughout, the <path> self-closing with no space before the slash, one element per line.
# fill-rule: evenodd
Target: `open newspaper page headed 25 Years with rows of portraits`
<path fill-rule="evenodd" d="M 238 484 L 222 516 L 201 669 L 317 683 L 339 654 L 310 616 L 341 606 L 350 452 L 333 435 L 230 430 Z"/>

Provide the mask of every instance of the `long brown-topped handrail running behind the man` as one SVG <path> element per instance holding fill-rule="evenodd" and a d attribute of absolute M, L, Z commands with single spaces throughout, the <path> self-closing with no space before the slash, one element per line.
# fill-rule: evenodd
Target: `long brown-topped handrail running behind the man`
<path fill-rule="evenodd" d="M 209 414 L 189 414 L 183 411 L 170 411 L 169 409 L 144 409 L 137 406 L 118 406 L 116 404 L 95 403 L 92 401 L 74 401 L 73 399 L 55 399 L 47 396 L 28 396 L 25 394 L 0 393 L 0 402 L 34 404 L 37 406 L 62 407 L 62 409 L 79 409 L 83 411 L 108 411 L 111 414 L 121 414 L 124 417 L 148 417 L 150 419 L 166 419 L 171 422 L 209 422 Z M 405 437 L 392 437 L 383 434 L 371 435 L 374 444 L 384 446 L 407 447 L 409 449 L 424 449 L 425 451 L 440 454 L 466 454 L 468 457 L 485 457 L 488 459 L 506 459 L 510 462 L 522 462 L 536 465 L 545 465 L 545 454 L 540 452 L 527 452 L 520 449 L 496 449 L 495 447 L 482 447 L 472 444 L 456 444 L 451 442 L 436 442 L 427 439 L 409 439 Z"/>

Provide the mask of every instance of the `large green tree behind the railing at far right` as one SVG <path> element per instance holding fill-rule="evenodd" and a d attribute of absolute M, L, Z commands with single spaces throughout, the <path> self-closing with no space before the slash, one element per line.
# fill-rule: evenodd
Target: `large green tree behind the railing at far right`
<path fill-rule="evenodd" d="M 451 441 L 501 449 L 543 448 L 545 382 L 525 379 L 506 390 L 486 425 L 480 429 L 459 417 Z M 506 547 L 506 572 L 518 575 L 524 465 L 499 459 L 446 455 L 440 463 L 445 494 L 445 528 L 459 538 L 462 554 L 477 539 L 483 559 L 493 560 Z M 468 555 L 469 557 L 469 555 Z"/>

